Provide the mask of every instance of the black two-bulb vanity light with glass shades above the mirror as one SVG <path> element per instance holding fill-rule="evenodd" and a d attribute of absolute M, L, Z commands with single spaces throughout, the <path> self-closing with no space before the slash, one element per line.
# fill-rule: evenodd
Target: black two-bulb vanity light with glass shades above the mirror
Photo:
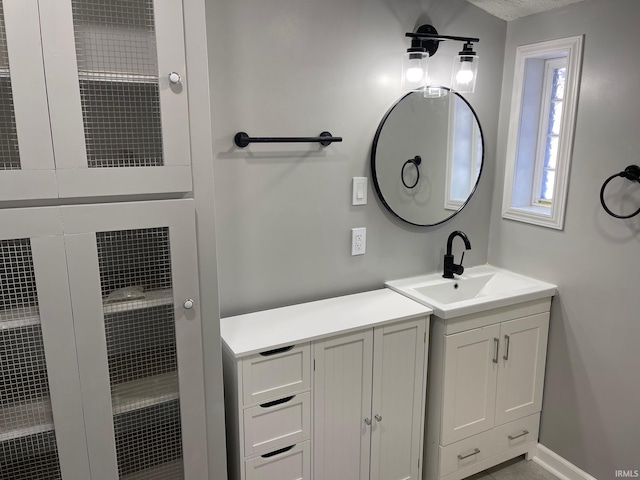
<path fill-rule="evenodd" d="M 410 37 L 411 48 L 404 54 L 402 63 L 403 90 L 424 90 L 425 96 L 439 96 L 444 90 L 427 88 L 427 57 L 438 51 L 440 42 L 454 40 L 464 42 L 462 51 L 453 60 L 451 88 L 460 93 L 473 93 L 480 57 L 473 51 L 473 44 L 480 41 L 473 37 L 440 35 L 433 25 L 421 25 Z"/>

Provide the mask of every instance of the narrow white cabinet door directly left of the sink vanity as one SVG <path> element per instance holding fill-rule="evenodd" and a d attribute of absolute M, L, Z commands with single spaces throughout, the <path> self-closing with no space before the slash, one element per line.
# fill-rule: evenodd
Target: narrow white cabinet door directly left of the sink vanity
<path fill-rule="evenodd" d="M 371 480 L 418 480 L 425 328 L 415 320 L 374 330 Z"/>

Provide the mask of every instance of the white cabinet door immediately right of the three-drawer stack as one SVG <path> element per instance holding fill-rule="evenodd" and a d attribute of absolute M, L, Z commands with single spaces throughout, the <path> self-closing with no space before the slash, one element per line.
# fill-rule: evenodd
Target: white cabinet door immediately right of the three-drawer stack
<path fill-rule="evenodd" d="M 314 478 L 368 480 L 373 330 L 314 349 Z"/>

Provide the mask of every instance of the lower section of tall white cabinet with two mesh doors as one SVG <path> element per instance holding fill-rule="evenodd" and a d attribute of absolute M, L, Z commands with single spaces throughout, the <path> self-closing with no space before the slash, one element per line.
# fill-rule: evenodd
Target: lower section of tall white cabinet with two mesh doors
<path fill-rule="evenodd" d="M 0 479 L 205 478 L 193 202 L 0 223 Z"/>

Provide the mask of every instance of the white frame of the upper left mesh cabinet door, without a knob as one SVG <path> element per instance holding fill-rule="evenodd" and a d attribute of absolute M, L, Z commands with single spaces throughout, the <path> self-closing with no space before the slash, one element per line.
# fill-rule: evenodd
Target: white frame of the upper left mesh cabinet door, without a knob
<path fill-rule="evenodd" d="M 21 168 L 0 172 L 0 201 L 57 198 L 38 0 L 2 6 Z"/>

